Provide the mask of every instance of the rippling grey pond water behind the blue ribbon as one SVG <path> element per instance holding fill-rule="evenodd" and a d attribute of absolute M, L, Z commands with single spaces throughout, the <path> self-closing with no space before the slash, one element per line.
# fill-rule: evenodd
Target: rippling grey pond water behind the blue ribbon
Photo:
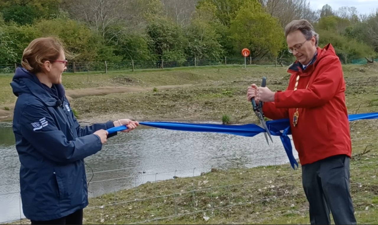
<path fill-rule="evenodd" d="M 280 138 L 272 138 L 274 143 L 268 145 L 263 134 L 243 137 L 138 127 L 109 139 L 99 153 L 85 160 L 88 181 L 91 179 L 89 194 L 95 197 L 147 181 L 198 176 L 211 168 L 288 162 Z M 0 123 L 0 152 L 0 222 L 24 218 L 18 183 L 20 162 L 10 123 Z M 293 153 L 297 158 L 295 149 Z"/>

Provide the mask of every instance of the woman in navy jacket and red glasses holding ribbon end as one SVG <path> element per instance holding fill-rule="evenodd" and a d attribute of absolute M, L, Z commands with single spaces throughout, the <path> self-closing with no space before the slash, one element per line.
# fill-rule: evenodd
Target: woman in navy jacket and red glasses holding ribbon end
<path fill-rule="evenodd" d="M 22 208 L 31 224 L 82 224 L 88 205 L 84 158 L 116 135 L 107 129 L 126 125 L 124 132 L 129 132 L 139 125 L 119 119 L 81 128 L 62 86 L 66 54 L 57 38 L 33 40 L 11 83 L 18 96 L 13 132 Z"/>

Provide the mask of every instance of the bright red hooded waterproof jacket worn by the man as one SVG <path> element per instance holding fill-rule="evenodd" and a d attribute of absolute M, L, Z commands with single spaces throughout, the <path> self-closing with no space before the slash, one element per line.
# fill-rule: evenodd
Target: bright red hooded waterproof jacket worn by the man
<path fill-rule="evenodd" d="M 345 81 L 335 49 L 331 44 L 323 49 L 318 47 L 317 55 L 304 71 L 296 61 L 288 72 L 291 77 L 287 89 L 277 91 L 274 102 L 264 103 L 265 116 L 290 119 L 293 142 L 301 165 L 333 155 L 350 157 L 352 141 L 345 105 Z M 297 75 L 299 82 L 294 91 Z M 297 108 L 298 123 L 293 126 Z"/>

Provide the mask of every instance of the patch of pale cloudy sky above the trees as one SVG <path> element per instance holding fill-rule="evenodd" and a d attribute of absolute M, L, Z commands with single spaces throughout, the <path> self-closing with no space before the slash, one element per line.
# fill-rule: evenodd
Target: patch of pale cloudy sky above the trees
<path fill-rule="evenodd" d="M 378 0 L 309 0 L 310 7 L 313 9 L 322 9 L 325 4 L 332 7 L 333 11 L 342 6 L 356 7 L 359 14 L 370 14 L 376 12 Z"/>

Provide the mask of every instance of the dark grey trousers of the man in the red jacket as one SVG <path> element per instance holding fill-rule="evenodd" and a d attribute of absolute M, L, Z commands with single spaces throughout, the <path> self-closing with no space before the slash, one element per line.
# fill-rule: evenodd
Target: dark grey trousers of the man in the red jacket
<path fill-rule="evenodd" d="M 310 203 L 311 224 L 356 224 L 349 187 L 350 158 L 331 156 L 302 165 L 302 184 Z"/>

